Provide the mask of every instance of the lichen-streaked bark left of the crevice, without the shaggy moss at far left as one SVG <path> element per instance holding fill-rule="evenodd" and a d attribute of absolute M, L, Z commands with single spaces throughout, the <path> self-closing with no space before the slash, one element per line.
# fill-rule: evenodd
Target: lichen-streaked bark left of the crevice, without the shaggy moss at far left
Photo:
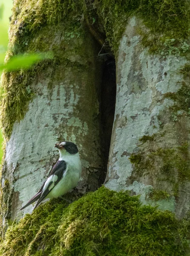
<path fill-rule="evenodd" d="M 56 142 L 72 141 L 79 147 L 82 178 L 71 200 L 101 184 L 97 47 L 84 27 L 80 28 L 84 36 L 70 36 L 69 43 L 66 32 L 63 23 L 46 26 L 32 41 L 34 45 L 39 44 L 39 38 L 42 43 L 48 41 L 48 50 L 59 49 L 62 60 L 46 67 L 33 83 L 27 84 L 35 92 L 34 99 L 23 120 L 14 123 L 6 143 L 2 183 L 4 188 L 9 183 L 9 191 L 4 195 L 4 219 L 18 220 L 32 211 L 33 206 L 22 211 L 19 208 L 38 191 L 57 161 Z"/>

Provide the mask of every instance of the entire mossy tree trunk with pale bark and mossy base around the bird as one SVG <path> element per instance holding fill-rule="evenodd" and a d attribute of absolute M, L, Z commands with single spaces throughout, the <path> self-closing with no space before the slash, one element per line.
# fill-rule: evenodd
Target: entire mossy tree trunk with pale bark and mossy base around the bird
<path fill-rule="evenodd" d="M 30 70 L 5 72 L 2 77 L 5 96 L 1 119 L 7 141 L 0 194 L 1 226 L 5 229 L 7 218 L 18 220 L 31 212 L 32 206 L 22 212 L 19 208 L 37 192 L 56 162 L 56 142 L 77 143 L 82 158 L 82 179 L 68 198 L 74 200 L 103 183 L 103 158 L 108 155 L 114 107 L 105 186 L 117 192 L 129 190 L 131 195 L 139 195 L 142 204 L 158 205 L 163 211 L 142 206 L 137 197 L 127 193 L 105 188 L 66 209 L 62 202 L 50 201 L 15 226 L 18 233 L 25 229 L 28 232 L 30 239 L 26 243 L 24 232 L 11 243 L 17 232 L 13 231 L 12 236 L 9 231 L 9 243 L 5 245 L 8 253 L 13 246 L 18 255 L 17 243 L 23 244 L 21 251 L 27 255 L 43 253 L 43 248 L 49 246 L 54 253 L 59 229 L 57 255 L 63 251 L 95 255 L 96 248 L 104 243 L 108 254 L 116 251 L 140 255 L 145 251 L 153 255 L 159 248 L 160 255 L 163 251 L 185 255 L 188 238 L 184 233 L 189 224 L 184 219 L 176 221 L 174 214 L 183 218 L 190 209 L 189 13 L 190 3 L 186 0 L 14 2 L 7 59 L 23 52 L 51 51 L 54 56 Z M 102 46 L 97 47 L 92 35 Z M 116 57 L 116 104 L 113 84 L 109 90 L 109 81 L 114 80 L 109 74 L 114 68 L 102 76 L 102 64 L 97 58 L 113 54 L 108 42 Z M 100 104 L 101 99 L 106 103 Z M 102 136 L 102 131 L 108 133 Z M 104 145 L 107 148 L 102 154 Z M 65 215 L 71 208 L 68 220 Z M 125 222 L 123 212 L 127 212 Z M 43 213 L 45 217 L 39 222 Z M 55 224 L 58 215 L 60 223 Z M 94 231 L 96 236 L 88 236 L 89 227 L 92 230 L 95 226 L 100 227 Z M 163 238 L 166 226 L 170 228 Z M 48 244 L 45 237 L 52 243 Z M 86 244 L 85 249 L 78 246 L 78 238 Z M 69 239 L 74 241 L 71 247 L 66 245 Z M 119 249 L 113 249 L 114 244 Z M 175 250 L 179 253 L 175 254 Z"/>

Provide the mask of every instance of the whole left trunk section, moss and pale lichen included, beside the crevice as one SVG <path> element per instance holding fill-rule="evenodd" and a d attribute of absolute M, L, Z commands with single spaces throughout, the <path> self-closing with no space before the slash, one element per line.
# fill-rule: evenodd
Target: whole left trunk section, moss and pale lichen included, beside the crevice
<path fill-rule="evenodd" d="M 54 150 L 57 141 L 77 143 L 82 159 L 82 178 L 78 190 L 70 194 L 71 200 L 95 190 L 104 176 L 98 101 L 101 62 L 96 59 L 97 44 L 73 9 L 64 22 L 51 20 L 39 27 L 43 14 L 36 12 L 32 16 L 34 2 L 30 2 L 31 6 L 15 2 L 11 52 L 7 58 L 31 51 L 51 51 L 54 58 L 43 60 L 29 70 L 5 72 L 2 78 L 5 90 L 2 122 L 9 139 L 2 186 L 9 180 L 8 194 L 14 198 L 14 204 L 9 200 L 11 207 L 7 204 L 9 215 L 7 210 L 1 212 L 6 221 L 7 217 L 20 219 L 31 212 L 33 206 L 24 211 L 19 208 L 37 192 L 58 159 L 58 151 Z M 45 11 L 48 6 L 41 7 Z M 33 30 L 29 25 L 34 26 Z"/>

